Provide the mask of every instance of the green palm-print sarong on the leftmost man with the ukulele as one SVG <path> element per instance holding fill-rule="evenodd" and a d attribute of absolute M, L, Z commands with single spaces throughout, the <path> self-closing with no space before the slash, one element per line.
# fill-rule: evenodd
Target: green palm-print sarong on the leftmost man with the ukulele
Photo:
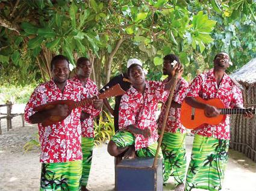
<path fill-rule="evenodd" d="M 42 163 L 40 190 L 80 190 L 82 161 Z"/>

